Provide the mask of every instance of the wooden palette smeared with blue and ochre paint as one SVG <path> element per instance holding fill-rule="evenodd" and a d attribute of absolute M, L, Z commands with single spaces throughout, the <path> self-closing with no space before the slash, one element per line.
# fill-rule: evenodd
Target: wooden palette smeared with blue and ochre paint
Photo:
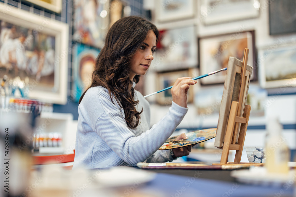
<path fill-rule="evenodd" d="M 188 139 L 181 139 L 177 141 L 175 139 L 178 136 L 174 136 L 169 138 L 165 142 L 165 144 L 163 144 L 160 147 L 159 150 L 174 149 L 174 148 L 189 146 L 189 145 L 197 144 L 203 141 L 207 141 L 209 139 L 216 137 L 216 131 L 217 131 L 217 128 L 208 128 L 208 129 L 192 131 L 192 132 L 186 133 L 186 136 L 188 137 Z"/>

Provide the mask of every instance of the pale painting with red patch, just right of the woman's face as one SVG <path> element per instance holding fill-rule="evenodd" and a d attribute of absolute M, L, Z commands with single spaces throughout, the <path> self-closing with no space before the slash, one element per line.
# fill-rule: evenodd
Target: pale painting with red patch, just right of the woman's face
<path fill-rule="evenodd" d="M 179 27 L 160 30 L 152 69 L 155 71 L 172 71 L 197 67 L 198 50 L 195 27 Z"/>

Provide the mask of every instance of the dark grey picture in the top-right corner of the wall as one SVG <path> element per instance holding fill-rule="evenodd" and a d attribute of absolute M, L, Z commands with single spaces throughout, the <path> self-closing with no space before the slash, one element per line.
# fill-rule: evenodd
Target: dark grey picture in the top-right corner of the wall
<path fill-rule="evenodd" d="M 269 8 L 269 34 L 296 32 L 295 0 L 271 1 Z"/>

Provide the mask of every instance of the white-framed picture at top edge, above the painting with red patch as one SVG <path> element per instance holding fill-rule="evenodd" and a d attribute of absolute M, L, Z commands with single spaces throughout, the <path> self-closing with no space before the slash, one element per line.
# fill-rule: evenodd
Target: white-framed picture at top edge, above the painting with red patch
<path fill-rule="evenodd" d="M 156 4 L 156 21 L 167 22 L 194 17 L 193 0 L 158 0 Z"/>

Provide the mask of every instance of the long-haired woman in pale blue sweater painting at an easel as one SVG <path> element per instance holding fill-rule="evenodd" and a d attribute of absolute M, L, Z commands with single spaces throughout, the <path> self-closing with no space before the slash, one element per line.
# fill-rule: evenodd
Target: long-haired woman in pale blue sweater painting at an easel
<path fill-rule="evenodd" d="M 119 19 L 107 33 L 96 59 L 91 86 L 79 100 L 73 168 L 135 166 L 188 155 L 191 146 L 158 151 L 187 112 L 191 77 L 176 80 L 169 112 L 152 128 L 149 102 L 134 90 L 146 74 L 159 39 L 155 25 L 140 17 Z M 185 139 L 181 134 L 178 139 Z"/>

